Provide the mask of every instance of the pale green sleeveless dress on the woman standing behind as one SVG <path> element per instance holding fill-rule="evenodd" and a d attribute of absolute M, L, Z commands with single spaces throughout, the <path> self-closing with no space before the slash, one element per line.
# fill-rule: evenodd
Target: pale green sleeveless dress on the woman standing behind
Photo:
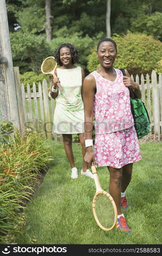
<path fill-rule="evenodd" d="M 63 90 L 56 98 L 53 132 L 57 134 L 84 133 L 84 109 L 81 97 L 81 67 L 57 69 Z"/>

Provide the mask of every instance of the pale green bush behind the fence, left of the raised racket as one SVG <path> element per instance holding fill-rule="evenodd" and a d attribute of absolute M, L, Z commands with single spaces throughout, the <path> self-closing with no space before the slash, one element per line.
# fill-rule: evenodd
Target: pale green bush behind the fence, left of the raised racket
<path fill-rule="evenodd" d="M 35 30 L 10 33 L 13 65 L 20 73 L 33 71 L 40 73 L 42 60 L 51 55 L 45 35 L 36 35 Z"/>

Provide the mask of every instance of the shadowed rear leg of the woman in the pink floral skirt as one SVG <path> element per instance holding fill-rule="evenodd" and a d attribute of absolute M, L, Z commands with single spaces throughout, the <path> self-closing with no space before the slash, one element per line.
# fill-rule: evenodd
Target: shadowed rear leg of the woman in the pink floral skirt
<path fill-rule="evenodd" d="M 128 187 L 131 177 L 132 177 L 132 169 L 133 163 L 129 163 L 123 166 L 123 175 L 122 175 L 122 183 L 121 183 L 121 192 L 124 193 L 126 188 Z"/>

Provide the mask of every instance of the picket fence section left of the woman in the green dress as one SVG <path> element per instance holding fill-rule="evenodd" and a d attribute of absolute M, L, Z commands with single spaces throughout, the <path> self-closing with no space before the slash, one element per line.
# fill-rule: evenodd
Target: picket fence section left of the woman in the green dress
<path fill-rule="evenodd" d="M 38 89 L 37 91 L 36 88 Z M 37 130 L 38 132 L 44 132 L 47 139 L 54 138 L 56 141 L 58 139 L 62 141 L 62 135 L 57 135 L 52 131 L 55 100 L 50 96 L 48 88 L 49 85 L 45 79 L 42 81 L 42 83 L 39 82 L 38 87 L 36 87 L 35 82 L 33 83 L 32 87 L 27 84 L 27 93 L 25 93 L 24 84 L 21 84 L 25 126 L 28 129 L 31 128 Z M 33 93 L 31 91 L 33 91 Z M 32 104 L 32 101 L 34 105 Z"/>

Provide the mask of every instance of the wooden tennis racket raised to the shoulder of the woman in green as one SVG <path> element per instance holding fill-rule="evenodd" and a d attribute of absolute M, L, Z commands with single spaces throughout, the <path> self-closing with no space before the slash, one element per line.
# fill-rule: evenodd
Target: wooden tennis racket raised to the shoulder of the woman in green
<path fill-rule="evenodd" d="M 53 56 L 50 56 L 50 57 L 44 59 L 44 61 L 42 62 L 41 72 L 43 74 L 45 74 L 45 75 L 52 74 L 54 78 L 57 78 L 57 76 L 55 75 L 56 69 L 57 69 L 57 62 Z M 63 89 L 59 82 L 57 82 L 57 86 L 60 91 Z"/>

